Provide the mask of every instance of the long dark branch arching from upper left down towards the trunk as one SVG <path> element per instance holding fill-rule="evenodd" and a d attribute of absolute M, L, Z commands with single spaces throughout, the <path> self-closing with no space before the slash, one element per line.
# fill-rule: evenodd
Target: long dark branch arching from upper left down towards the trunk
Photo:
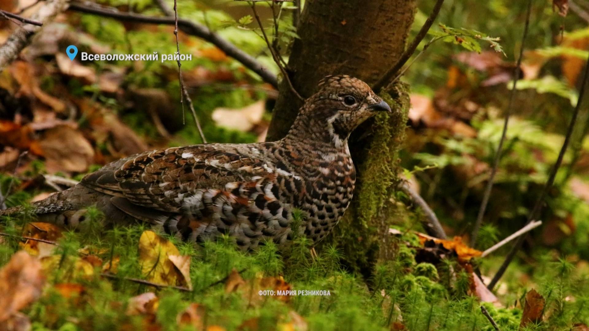
<path fill-rule="evenodd" d="M 57 0 L 55 0 L 57 1 Z M 84 12 L 86 14 L 94 14 L 105 17 L 111 17 L 120 19 L 121 21 L 128 22 L 141 22 L 147 24 L 163 24 L 163 25 L 176 25 L 176 20 L 173 17 L 155 17 L 141 14 L 134 14 L 128 12 L 120 12 L 111 7 L 97 6 L 95 4 L 82 4 L 81 2 L 72 2 L 70 4 L 71 11 Z M 236 59 L 241 62 L 244 67 L 252 70 L 262 78 L 263 81 L 269 83 L 274 88 L 278 88 L 278 80 L 276 75 L 272 74 L 270 70 L 264 65 L 260 64 L 255 58 L 247 54 L 235 45 L 231 44 L 226 39 L 220 37 L 216 32 L 211 29 L 204 27 L 203 25 L 196 24 L 188 19 L 178 19 L 178 28 L 188 35 L 204 39 L 217 48 L 221 49 L 229 57 Z"/>

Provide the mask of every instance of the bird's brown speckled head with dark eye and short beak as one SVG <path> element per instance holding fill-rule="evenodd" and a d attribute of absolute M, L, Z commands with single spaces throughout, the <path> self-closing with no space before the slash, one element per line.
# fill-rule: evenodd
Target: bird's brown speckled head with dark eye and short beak
<path fill-rule="evenodd" d="M 334 140 L 345 141 L 363 121 L 391 107 L 365 82 L 348 75 L 327 76 L 319 90 L 305 101 L 301 114 L 325 123 Z M 322 125 L 323 126 L 323 125 Z"/>

